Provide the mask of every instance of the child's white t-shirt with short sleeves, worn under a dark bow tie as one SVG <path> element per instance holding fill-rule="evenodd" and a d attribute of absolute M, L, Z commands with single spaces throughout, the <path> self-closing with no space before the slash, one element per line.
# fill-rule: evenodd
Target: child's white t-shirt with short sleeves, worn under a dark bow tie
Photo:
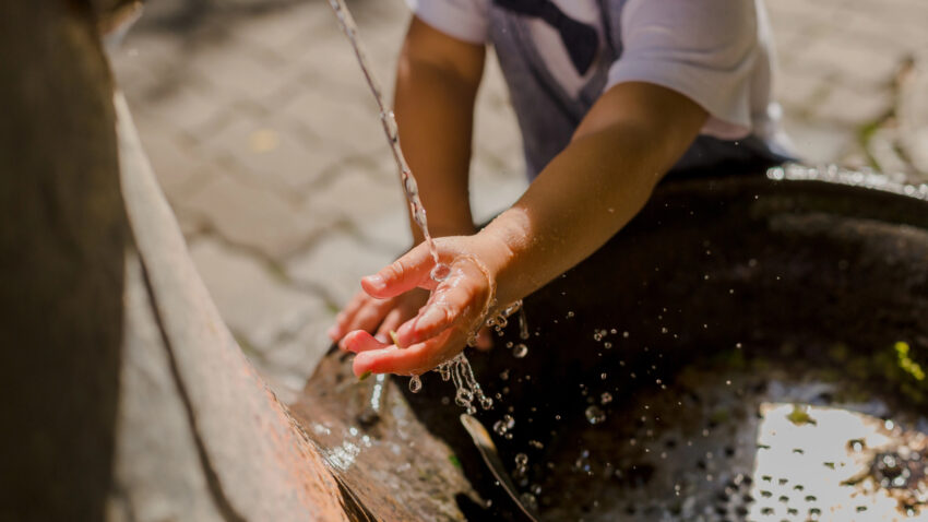
<path fill-rule="evenodd" d="M 568 16 L 604 38 L 596 0 L 552 0 Z M 407 0 L 416 16 L 455 38 L 488 41 L 491 0 Z M 545 66 L 561 87 L 575 94 L 597 69 L 580 75 L 558 32 L 526 19 Z M 773 43 L 762 0 L 628 0 L 621 14 L 621 56 L 609 68 L 605 90 L 630 81 L 677 91 L 710 114 L 702 133 L 722 140 L 754 134 L 771 149 L 792 146 L 772 100 Z M 598 57 L 597 57 L 598 59 Z"/>

